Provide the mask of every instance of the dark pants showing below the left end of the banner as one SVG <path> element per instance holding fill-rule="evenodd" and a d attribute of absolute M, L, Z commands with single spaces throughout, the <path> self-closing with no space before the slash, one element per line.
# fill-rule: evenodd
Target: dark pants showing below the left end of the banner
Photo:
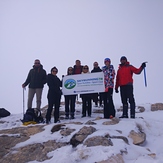
<path fill-rule="evenodd" d="M 76 95 L 65 95 L 65 115 L 74 117 Z"/>

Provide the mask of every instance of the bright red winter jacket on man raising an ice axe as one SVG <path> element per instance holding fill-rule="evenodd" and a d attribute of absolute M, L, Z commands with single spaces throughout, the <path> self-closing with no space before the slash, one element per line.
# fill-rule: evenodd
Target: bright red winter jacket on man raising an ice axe
<path fill-rule="evenodd" d="M 125 65 L 120 64 L 116 76 L 116 85 L 115 89 L 118 89 L 119 86 L 123 85 L 132 85 L 133 84 L 133 73 L 140 74 L 142 72 L 142 67 L 135 68 L 130 65 L 129 62 L 126 62 Z"/>

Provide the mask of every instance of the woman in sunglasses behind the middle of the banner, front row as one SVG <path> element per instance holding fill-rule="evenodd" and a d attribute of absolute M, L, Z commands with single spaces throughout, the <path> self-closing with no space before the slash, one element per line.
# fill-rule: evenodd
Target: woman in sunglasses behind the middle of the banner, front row
<path fill-rule="evenodd" d="M 87 65 L 83 66 L 82 74 L 89 74 L 89 67 Z M 91 117 L 92 113 L 92 94 L 81 94 L 82 98 L 82 118 L 86 117 L 86 112 L 88 117 Z"/>

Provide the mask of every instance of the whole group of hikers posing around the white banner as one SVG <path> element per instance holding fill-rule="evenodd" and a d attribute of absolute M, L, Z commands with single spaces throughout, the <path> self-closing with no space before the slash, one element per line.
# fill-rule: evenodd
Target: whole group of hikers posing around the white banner
<path fill-rule="evenodd" d="M 120 96 L 121 102 L 123 104 L 123 114 L 120 118 L 128 118 L 128 103 L 130 103 L 130 118 L 135 118 L 135 99 L 133 94 L 133 73 L 140 74 L 142 70 L 146 67 L 145 62 L 141 64 L 139 68 L 135 68 L 130 65 L 125 56 L 120 58 L 119 68 L 117 74 L 115 73 L 114 66 L 111 64 L 110 58 L 104 59 L 104 66 L 99 67 L 98 62 L 93 63 L 93 70 L 89 70 L 88 65 L 81 65 L 80 60 L 76 60 L 75 65 L 68 67 L 67 75 L 75 74 L 86 74 L 86 73 L 104 73 L 104 92 L 100 93 L 87 93 L 80 94 L 82 99 L 82 117 L 88 115 L 91 117 L 92 114 L 92 100 L 95 102 L 95 105 L 101 106 L 103 103 L 104 118 L 113 118 L 115 117 L 115 107 L 113 102 L 113 90 L 119 92 L 120 87 Z M 46 71 L 43 69 L 43 66 L 39 59 L 34 61 L 33 68 L 29 71 L 26 81 L 22 84 L 22 87 L 25 88 L 29 85 L 28 91 L 28 102 L 27 107 L 32 108 L 32 101 L 34 95 L 36 94 L 36 108 L 40 110 L 41 107 L 41 96 L 44 84 L 47 83 L 48 90 L 48 109 L 46 113 L 46 123 L 51 122 L 51 114 L 54 109 L 54 123 L 59 121 L 59 108 L 61 101 L 61 87 L 62 80 L 57 77 L 58 69 L 57 67 L 52 67 L 51 72 L 46 74 Z M 116 75 L 116 83 L 114 86 L 114 79 Z M 62 76 L 64 77 L 64 76 Z M 74 119 L 75 114 L 75 102 L 78 95 L 64 95 L 65 98 L 65 119 Z M 98 98 L 99 97 L 99 98 Z"/>

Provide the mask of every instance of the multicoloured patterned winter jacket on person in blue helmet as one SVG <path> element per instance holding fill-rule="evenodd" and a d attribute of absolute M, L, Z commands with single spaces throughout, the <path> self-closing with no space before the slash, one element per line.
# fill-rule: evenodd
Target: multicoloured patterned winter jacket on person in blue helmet
<path fill-rule="evenodd" d="M 107 66 L 102 67 L 102 71 L 104 73 L 105 89 L 113 88 L 114 87 L 114 77 L 115 77 L 115 70 L 114 70 L 113 65 L 110 65 L 109 67 L 107 67 Z"/>

